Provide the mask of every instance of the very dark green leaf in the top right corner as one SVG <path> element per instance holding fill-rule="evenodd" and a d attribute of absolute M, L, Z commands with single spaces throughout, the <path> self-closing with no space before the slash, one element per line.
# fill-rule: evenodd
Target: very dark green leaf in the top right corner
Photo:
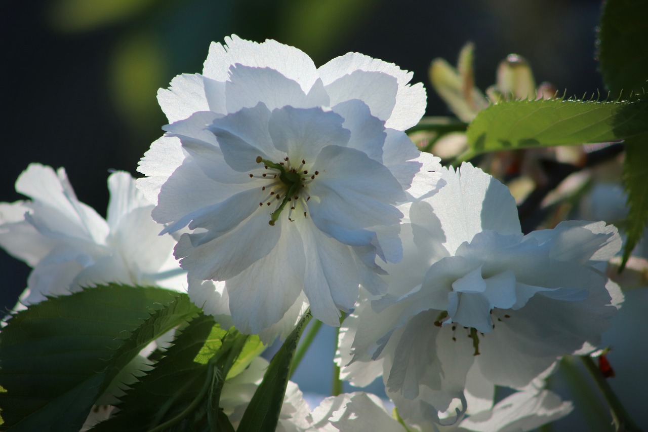
<path fill-rule="evenodd" d="M 599 62 L 605 85 L 617 97 L 648 91 L 648 2 L 608 0 L 599 31 Z"/>

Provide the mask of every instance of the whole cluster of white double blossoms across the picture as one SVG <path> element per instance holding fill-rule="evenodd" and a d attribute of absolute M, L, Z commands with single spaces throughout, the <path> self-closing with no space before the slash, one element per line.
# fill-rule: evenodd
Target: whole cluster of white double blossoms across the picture
<path fill-rule="evenodd" d="M 213 43 L 202 74 L 159 91 L 170 124 L 145 178 L 111 174 L 107 221 L 62 169 L 20 176 L 31 200 L 0 206 L 0 245 L 33 267 L 21 302 L 159 285 L 266 342 L 309 307 L 332 326 L 350 312 L 342 378 L 382 376 L 400 421 L 365 393 L 309 412 L 289 386 L 287 431 L 526 431 L 568 414 L 543 379 L 594 350 L 621 304 L 605 276 L 618 232 L 568 221 L 522 234 L 507 187 L 441 167 L 405 134 L 426 106 L 411 78 L 357 53 L 316 67 L 272 40 Z M 233 424 L 257 369 L 224 387 Z M 514 392 L 494 404 L 495 386 Z"/>

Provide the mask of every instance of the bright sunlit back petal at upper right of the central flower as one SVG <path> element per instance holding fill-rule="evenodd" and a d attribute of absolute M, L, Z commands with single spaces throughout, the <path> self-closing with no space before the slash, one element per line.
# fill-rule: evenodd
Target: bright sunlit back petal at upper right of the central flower
<path fill-rule="evenodd" d="M 353 71 L 358 69 L 361 71 L 377 71 L 386 73 L 395 77 L 397 80 L 398 89 L 395 104 L 391 110 L 390 117 L 388 119 L 383 119 L 387 121 L 385 125 L 386 127 L 406 130 L 419 122 L 419 119 L 421 119 L 424 114 L 426 107 L 425 89 L 421 83 L 410 86 L 408 82 L 410 82 L 413 74 L 411 72 L 400 70 L 400 68 L 395 66 L 395 64 L 383 62 L 382 60 L 371 58 L 363 54 L 348 53 L 330 60 L 327 64 L 319 67 L 318 72 L 325 86 L 327 86 L 338 78 L 351 74 Z M 365 85 L 363 83 L 360 84 L 363 86 Z M 376 89 L 373 90 L 375 91 Z M 384 89 L 381 88 L 380 91 L 375 91 L 375 93 L 381 93 L 382 91 L 384 91 Z M 344 100 L 349 99 L 354 99 L 354 97 L 346 97 Z M 335 103 L 332 102 L 332 104 Z M 371 104 L 369 104 L 369 106 L 371 106 Z"/>

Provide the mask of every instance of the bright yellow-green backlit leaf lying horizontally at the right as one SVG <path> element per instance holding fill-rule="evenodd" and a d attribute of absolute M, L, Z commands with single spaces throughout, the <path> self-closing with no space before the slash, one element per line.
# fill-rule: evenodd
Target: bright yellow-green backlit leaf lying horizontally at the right
<path fill-rule="evenodd" d="M 648 102 L 501 102 L 481 111 L 467 132 L 470 154 L 620 141 L 648 131 Z"/>

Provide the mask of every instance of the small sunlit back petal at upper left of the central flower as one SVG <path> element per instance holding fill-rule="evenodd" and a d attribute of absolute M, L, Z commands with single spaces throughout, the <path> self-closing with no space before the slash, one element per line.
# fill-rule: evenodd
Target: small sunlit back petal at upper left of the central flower
<path fill-rule="evenodd" d="M 198 74 L 173 78 L 168 89 L 157 90 L 157 102 L 169 123 L 186 119 L 194 112 L 209 111 L 203 77 Z"/>

